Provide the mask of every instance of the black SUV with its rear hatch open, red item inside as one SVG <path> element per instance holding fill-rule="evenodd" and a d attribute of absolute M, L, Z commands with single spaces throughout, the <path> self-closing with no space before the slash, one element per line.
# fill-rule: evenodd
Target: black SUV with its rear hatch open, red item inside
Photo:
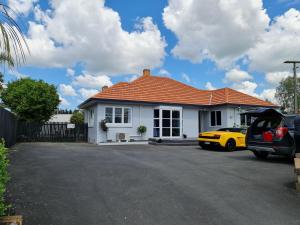
<path fill-rule="evenodd" d="M 247 130 L 246 144 L 257 158 L 269 154 L 293 157 L 300 152 L 300 116 L 284 115 L 275 109 L 245 114 L 256 118 Z"/>

